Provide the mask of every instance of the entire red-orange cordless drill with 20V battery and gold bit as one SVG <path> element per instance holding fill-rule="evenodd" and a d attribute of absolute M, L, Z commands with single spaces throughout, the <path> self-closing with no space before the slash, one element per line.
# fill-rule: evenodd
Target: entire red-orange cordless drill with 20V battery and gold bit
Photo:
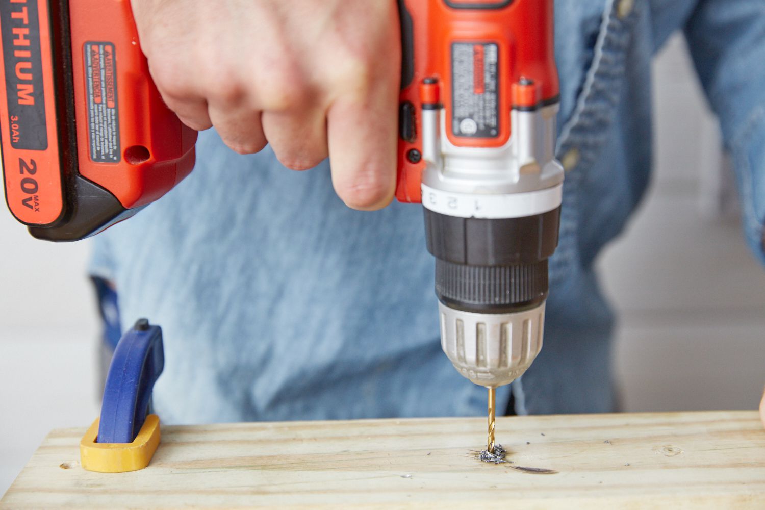
<path fill-rule="evenodd" d="M 493 388 L 542 347 L 558 244 L 553 0 L 399 0 L 396 197 L 422 202 L 441 346 Z M 31 234 L 92 236 L 194 166 L 196 133 L 164 106 L 129 0 L 2 0 L 5 197 Z"/>

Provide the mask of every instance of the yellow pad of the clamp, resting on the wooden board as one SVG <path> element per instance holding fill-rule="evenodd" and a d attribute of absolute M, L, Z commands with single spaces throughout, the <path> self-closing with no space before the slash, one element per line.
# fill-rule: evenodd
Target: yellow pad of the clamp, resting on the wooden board
<path fill-rule="evenodd" d="M 99 418 L 80 440 L 80 463 L 88 471 L 125 473 L 144 469 L 159 446 L 159 417 L 149 414 L 132 443 L 96 443 Z"/>

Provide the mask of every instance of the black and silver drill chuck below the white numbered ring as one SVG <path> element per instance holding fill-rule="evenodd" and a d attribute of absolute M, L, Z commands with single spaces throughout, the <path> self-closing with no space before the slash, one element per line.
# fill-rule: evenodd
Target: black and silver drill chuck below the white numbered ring
<path fill-rule="evenodd" d="M 425 210 L 441 347 L 477 385 L 513 382 L 542 349 L 548 258 L 558 244 L 559 218 L 559 206 L 503 219 Z"/>

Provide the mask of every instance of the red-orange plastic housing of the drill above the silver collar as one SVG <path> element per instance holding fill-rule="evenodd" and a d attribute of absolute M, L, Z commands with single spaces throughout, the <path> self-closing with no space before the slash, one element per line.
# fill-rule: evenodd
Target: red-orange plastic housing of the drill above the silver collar
<path fill-rule="evenodd" d="M 511 109 L 534 109 L 558 101 L 553 0 L 400 0 L 399 5 L 404 50 L 401 103 L 405 107 L 396 197 L 402 202 L 420 202 L 425 169 L 422 139 L 411 134 L 422 132 L 419 119 L 423 80 L 435 78 L 445 117 L 454 119 L 457 47 L 473 47 L 468 65 L 473 66 L 470 71 L 476 94 L 485 92 L 484 76 L 490 76 L 485 69 L 485 52 L 496 51 L 496 73 L 491 73 L 496 74 L 496 80 L 490 84 L 496 86 L 496 134 L 457 135 L 449 120 L 445 131 L 448 141 L 458 147 L 505 145 L 513 131 Z M 522 78 L 533 85 L 519 85 Z M 407 124 L 412 126 L 405 128 Z"/>

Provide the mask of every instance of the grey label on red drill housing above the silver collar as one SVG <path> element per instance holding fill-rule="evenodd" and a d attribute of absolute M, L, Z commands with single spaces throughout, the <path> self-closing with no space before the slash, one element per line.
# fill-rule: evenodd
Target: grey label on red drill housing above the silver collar
<path fill-rule="evenodd" d="M 499 48 L 493 43 L 451 45 L 451 132 L 470 138 L 499 135 Z"/>

